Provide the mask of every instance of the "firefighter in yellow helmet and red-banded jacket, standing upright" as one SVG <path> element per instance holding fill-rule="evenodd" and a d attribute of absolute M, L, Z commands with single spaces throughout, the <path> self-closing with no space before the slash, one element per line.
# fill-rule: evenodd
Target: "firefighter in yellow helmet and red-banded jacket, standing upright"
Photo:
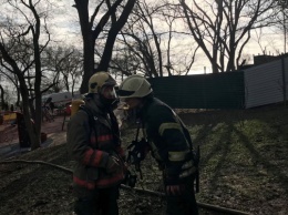
<path fill-rule="evenodd" d="M 107 72 L 93 74 L 85 104 L 68 123 L 68 149 L 75 160 L 73 187 L 78 215 L 119 214 L 119 187 L 125 176 L 125 155 L 113 113 L 115 85 Z"/>

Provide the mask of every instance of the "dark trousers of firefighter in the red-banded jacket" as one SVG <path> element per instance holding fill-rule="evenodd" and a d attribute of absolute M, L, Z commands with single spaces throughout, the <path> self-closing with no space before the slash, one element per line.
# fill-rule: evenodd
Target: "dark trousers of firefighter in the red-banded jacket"
<path fill-rule="evenodd" d="M 92 198 L 79 198 L 74 205 L 78 215 L 119 215 L 119 186 L 97 188 Z"/>

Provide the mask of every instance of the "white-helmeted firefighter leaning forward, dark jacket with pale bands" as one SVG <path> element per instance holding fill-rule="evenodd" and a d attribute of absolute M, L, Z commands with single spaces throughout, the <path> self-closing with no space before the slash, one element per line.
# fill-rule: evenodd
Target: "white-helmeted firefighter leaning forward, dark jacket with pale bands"
<path fill-rule="evenodd" d="M 147 149 L 163 171 L 167 215 L 197 215 L 194 192 L 196 160 L 189 133 L 177 114 L 154 98 L 148 81 L 141 75 L 126 78 L 119 86 L 119 98 L 134 109 L 144 129 Z M 145 157 L 140 152 L 142 157 Z"/>

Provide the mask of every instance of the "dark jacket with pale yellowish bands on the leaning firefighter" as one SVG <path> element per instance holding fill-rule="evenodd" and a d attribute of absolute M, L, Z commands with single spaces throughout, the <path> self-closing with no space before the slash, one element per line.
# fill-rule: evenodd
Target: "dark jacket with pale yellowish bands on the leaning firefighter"
<path fill-rule="evenodd" d="M 166 185 L 185 183 L 196 168 L 189 133 L 175 112 L 156 98 L 148 98 L 140 117 L 153 156 L 164 170 Z"/>

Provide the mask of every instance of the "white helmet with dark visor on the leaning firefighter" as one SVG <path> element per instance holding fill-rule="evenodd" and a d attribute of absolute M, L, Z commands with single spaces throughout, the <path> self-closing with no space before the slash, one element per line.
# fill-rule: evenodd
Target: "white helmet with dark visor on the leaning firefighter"
<path fill-rule="evenodd" d="M 152 93 L 150 82 L 138 74 L 126 78 L 119 86 L 119 98 L 144 98 Z"/>

